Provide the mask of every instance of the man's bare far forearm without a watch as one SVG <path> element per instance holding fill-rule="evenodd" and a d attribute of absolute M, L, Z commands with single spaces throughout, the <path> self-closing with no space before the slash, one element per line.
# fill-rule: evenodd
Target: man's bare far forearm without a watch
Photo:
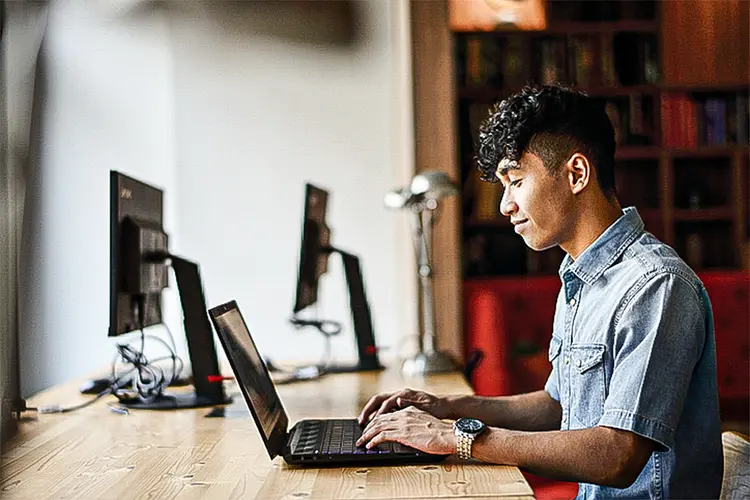
<path fill-rule="evenodd" d="M 451 419 L 473 417 L 487 426 L 521 431 L 560 429 L 560 403 L 546 391 L 501 397 L 456 395 L 445 399 Z"/>

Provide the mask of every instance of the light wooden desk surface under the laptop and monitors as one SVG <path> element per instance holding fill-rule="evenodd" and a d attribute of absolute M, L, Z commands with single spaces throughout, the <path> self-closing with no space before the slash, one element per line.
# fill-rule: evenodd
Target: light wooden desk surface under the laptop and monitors
<path fill-rule="evenodd" d="M 79 381 L 40 393 L 30 406 L 84 401 Z M 398 370 L 329 375 L 278 387 L 290 425 L 351 418 L 375 392 L 404 386 L 467 393 L 460 374 L 404 378 Z M 532 491 L 515 467 L 461 463 L 306 469 L 271 461 L 237 387 L 226 418 L 209 409 L 114 413 L 101 401 L 19 424 L 2 455 L 3 498 L 397 499 L 520 498 Z"/>

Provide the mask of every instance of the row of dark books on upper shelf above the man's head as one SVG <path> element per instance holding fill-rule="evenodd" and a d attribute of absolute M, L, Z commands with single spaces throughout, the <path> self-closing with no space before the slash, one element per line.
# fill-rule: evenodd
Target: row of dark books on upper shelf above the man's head
<path fill-rule="evenodd" d="M 474 34 L 459 47 L 458 61 L 467 87 L 517 88 L 527 81 L 611 87 L 659 80 L 655 37 L 643 33 L 533 39 Z"/>

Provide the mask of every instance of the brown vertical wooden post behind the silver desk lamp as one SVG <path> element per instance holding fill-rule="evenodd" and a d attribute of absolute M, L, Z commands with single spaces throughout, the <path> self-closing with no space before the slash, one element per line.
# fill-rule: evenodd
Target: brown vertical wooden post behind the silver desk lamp
<path fill-rule="evenodd" d="M 416 170 L 440 170 L 459 182 L 447 0 L 412 0 L 411 15 Z M 460 197 L 441 202 L 433 232 L 433 268 L 438 346 L 463 362 L 460 213 Z"/>

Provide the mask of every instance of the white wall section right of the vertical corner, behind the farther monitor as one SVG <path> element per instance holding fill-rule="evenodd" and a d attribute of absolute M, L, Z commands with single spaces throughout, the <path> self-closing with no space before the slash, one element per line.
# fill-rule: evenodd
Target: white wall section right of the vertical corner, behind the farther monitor
<path fill-rule="evenodd" d="M 356 3 L 356 41 L 335 44 L 287 35 L 311 19 L 275 31 L 277 13 L 257 7 L 171 18 L 181 249 L 200 262 L 210 304 L 238 300 L 262 352 L 317 361 L 322 337 L 288 318 L 304 183 L 325 187 L 332 242 L 360 255 L 376 340 L 395 349 L 413 333 L 405 327 L 413 275 L 399 274 L 411 263 L 405 216 L 382 203 L 411 170 L 398 160 L 408 131 L 394 127 L 398 58 L 406 57 L 394 21 L 403 12 L 397 2 Z M 333 352 L 353 360 L 343 270 L 338 257 L 329 262 L 318 315 L 344 322 Z"/>

